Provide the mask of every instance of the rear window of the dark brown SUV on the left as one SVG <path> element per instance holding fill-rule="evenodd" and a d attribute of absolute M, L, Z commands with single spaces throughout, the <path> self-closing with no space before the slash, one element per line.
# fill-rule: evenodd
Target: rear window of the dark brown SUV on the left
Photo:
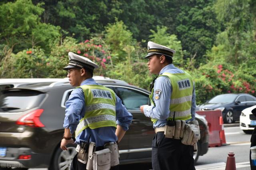
<path fill-rule="evenodd" d="M 34 90 L 2 90 L 0 92 L 1 112 L 20 112 L 40 105 L 45 94 Z"/>

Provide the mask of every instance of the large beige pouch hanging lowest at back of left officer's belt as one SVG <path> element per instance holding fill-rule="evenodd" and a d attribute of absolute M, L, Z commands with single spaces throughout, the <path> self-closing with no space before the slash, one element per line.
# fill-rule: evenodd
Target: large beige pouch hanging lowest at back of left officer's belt
<path fill-rule="evenodd" d="M 103 149 L 92 154 L 92 168 L 93 170 L 110 170 L 111 168 L 111 151 L 110 149 Z"/>

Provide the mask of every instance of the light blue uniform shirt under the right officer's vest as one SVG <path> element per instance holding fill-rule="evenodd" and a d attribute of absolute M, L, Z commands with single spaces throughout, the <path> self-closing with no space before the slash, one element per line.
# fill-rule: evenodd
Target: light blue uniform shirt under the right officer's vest
<path fill-rule="evenodd" d="M 168 73 L 184 73 L 183 70 L 175 67 L 173 64 L 168 64 L 159 74 L 163 74 L 164 72 Z M 152 117 L 154 119 L 158 119 L 156 123 L 153 125 L 154 128 L 162 127 L 166 125 L 166 119 L 169 117 L 170 113 L 170 102 L 171 102 L 171 94 L 172 94 L 172 84 L 168 77 L 160 76 L 156 79 L 154 83 L 154 92 L 155 90 L 162 90 L 162 94 L 158 100 L 154 102 L 156 106 L 144 106 L 144 114 L 147 117 Z M 193 94 L 192 94 L 192 106 L 191 106 L 191 116 L 190 120 L 194 120 L 196 114 L 196 93 L 195 93 L 195 86 L 193 86 Z"/>

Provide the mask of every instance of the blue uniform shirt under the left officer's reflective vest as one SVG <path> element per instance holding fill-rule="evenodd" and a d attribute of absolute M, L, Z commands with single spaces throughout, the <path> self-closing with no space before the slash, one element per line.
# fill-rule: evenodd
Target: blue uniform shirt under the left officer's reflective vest
<path fill-rule="evenodd" d="M 84 80 L 81 83 L 82 85 L 100 85 L 95 82 L 93 78 L 89 78 Z M 66 101 L 66 114 L 64 119 L 64 128 L 69 128 L 71 133 L 74 133 L 76 127 L 80 121 L 84 117 L 85 113 L 85 102 L 84 101 L 84 92 L 82 88 L 76 88 L 70 94 L 68 101 Z M 116 123 L 127 131 L 128 126 L 132 122 L 132 114 L 129 113 L 124 105 L 122 105 L 122 101 L 118 96 L 116 96 Z M 103 146 L 108 142 L 116 142 L 116 128 L 115 127 L 100 127 L 97 129 L 86 128 L 83 130 L 77 137 L 76 143 L 80 144 L 80 141 L 89 141 L 95 142 L 97 147 Z"/>

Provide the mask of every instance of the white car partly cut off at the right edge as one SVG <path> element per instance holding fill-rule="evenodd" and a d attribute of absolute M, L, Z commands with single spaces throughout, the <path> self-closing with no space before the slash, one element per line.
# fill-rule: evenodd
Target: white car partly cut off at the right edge
<path fill-rule="evenodd" d="M 256 105 L 242 110 L 240 115 L 240 129 L 244 133 L 252 133 L 252 130 L 256 126 L 256 117 L 252 114 L 252 109 L 254 108 L 256 108 Z"/>

